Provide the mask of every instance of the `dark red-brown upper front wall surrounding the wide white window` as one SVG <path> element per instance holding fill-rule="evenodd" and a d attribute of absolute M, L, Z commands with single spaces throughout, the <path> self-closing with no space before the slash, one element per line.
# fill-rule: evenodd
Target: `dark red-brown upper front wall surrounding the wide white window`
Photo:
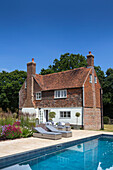
<path fill-rule="evenodd" d="M 35 100 L 37 107 L 82 107 L 82 88 L 68 89 L 67 98 L 54 99 L 54 91 L 43 91 L 42 100 Z"/>

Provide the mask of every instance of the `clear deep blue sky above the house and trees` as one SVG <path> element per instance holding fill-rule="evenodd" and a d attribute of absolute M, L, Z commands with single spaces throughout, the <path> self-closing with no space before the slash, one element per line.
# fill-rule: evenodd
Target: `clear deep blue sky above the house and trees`
<path fill-rule="evenodd" d="M 113 0 L 1 0 L 0 71 L 25 70 L 35 59 L 37 73 L 66 52 L 113 68 Z"/>

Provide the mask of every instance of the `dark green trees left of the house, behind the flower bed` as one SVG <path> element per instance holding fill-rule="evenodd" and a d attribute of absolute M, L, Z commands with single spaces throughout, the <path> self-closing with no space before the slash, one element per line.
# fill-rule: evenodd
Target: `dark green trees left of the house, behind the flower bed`
<path fill-rule="evenodd" d="M 19 90 L 26 77 L 26 72 L 18 70 L 0 73 L 0 107 L 3 111 L 17 112 Z"/>

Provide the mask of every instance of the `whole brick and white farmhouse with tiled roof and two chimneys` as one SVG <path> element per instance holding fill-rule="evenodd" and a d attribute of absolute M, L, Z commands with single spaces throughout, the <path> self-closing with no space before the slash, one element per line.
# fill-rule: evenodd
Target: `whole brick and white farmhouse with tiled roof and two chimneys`
<path fill-rule="evenodd" d="M 27 79 L 19 92 L 19 109 L 36 114 L 39 122 L 70 122 L 84 129 L 103 127 L 102 88 L 94 69 L 94 56 L 87 55 L 87 67 L 53 74 L 36 74 L 34 59 L 27 63 Z M 77 120 L 76 112 L 80 113 Z"/>

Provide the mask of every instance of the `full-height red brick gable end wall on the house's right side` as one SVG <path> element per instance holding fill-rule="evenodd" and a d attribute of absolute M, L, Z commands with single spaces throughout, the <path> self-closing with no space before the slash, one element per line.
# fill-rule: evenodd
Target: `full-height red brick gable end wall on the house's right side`
<path fill-rule="evenodd" d="M 92 83 L 90 83 L 90 76 L 88 76 L 84 85 L 84 129 L 101 129 L 101 103 L 100 103 L 100 89 L 99 80 L 94 82 L 96 75 L 95 70 L 92 68 L 89 75 L 92 74 Z"/>

